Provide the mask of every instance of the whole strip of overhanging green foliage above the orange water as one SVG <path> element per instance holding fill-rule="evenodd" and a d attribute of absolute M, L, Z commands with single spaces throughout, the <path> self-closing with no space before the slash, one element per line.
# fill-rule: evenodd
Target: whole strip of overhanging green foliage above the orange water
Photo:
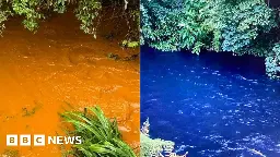
<path fill-rule="evenodd" d="M 124 41 L 136 47 L 139 40 L 139 0 L 0 0 L 0 35 L 9 19 L 22 17 L 23 26 L 36 33 L 40 22 L 67 11 L 74 12 L 80 28 L 94 38 L 103 15 L 109 12 L 110 20 L 126 20 L 127 35 Z"/>

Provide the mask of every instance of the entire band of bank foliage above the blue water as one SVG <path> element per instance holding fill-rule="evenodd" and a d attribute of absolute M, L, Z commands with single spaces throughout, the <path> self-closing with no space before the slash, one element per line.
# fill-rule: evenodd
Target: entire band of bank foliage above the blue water
<path fill-rule="evenodd" d="M 142 0 L 140 10 L 142 45 L 264 57 L 280 77 L 280 12 L 264 0 Z"/>

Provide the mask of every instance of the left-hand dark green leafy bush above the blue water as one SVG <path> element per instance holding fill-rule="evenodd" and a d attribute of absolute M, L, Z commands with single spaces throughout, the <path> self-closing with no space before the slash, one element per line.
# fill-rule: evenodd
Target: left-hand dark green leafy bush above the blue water
<path fill-rule="evenodd" d="M 184 3 L 143 0 L 141 9 L 141 43 L 156 49 L 174 51 L 202 47 L 206 29 L 201 25 L 201 0 L 187 0 Z"/>

